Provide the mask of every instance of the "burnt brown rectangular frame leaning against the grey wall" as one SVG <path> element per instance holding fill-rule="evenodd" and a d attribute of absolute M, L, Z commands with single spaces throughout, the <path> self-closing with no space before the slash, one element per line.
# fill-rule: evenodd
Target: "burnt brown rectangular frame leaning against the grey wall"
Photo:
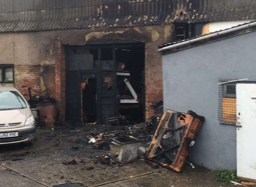
<path fill-rule="evenodd" d="M 198 116 L 191 110 L 188 113 L 165 110 L 146 158 L 181 172 L 203 121 L 203 116 Z"/>

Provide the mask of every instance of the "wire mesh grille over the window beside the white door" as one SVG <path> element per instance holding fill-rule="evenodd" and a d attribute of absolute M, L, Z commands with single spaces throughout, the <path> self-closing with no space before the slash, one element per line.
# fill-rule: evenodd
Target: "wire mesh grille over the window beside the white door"
<path fill-rule="evenodd" d="M 219 83 L 236 79 L 219 79 Z M 219 84 L 218 120 L 220 122 L 236 122 L 235 82 Z"/>

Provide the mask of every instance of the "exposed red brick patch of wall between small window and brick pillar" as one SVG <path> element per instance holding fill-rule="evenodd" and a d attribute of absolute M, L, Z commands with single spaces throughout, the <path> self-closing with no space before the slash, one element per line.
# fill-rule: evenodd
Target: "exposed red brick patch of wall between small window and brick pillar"
<path fill-rule="evenodd" d="M 15 88 L 21 92 L 26 100 L 29 99 L 28 88 L 41 92 L 40 65 L 15 65 L 14 66 Z M 38 95 L 32 91 L 32 95 Z"/>

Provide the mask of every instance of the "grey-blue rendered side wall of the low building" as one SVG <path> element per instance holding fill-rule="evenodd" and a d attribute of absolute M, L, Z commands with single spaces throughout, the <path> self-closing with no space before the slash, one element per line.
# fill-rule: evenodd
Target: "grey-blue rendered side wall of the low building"
<path fill-rule="evenodd" d="M 236 127 L 218 121 L 218 78 L 256 80 L 256 32 L 163 56 L 164 108 L 205 117 L 190 160 L 236 169 Z"/>

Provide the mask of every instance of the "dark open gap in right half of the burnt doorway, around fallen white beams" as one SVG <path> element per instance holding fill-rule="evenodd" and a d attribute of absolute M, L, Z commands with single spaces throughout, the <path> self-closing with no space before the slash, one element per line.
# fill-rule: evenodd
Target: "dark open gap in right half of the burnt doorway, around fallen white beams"
<path fill-rule="evenodd" d="M 127 88 L 124 79 L 127 78 L 138 95 L 139 103 L 120 103 L 119 113 L 126 116 L 130 122 L 144 121 L 145 83 L 144 83 L 144 47 L 115 48 L 117 68 L 119 71 L 129 72 L 130 76 L 117 76 L 117 97 L 119 99 L 132 99 L 133 96 Z"/>

